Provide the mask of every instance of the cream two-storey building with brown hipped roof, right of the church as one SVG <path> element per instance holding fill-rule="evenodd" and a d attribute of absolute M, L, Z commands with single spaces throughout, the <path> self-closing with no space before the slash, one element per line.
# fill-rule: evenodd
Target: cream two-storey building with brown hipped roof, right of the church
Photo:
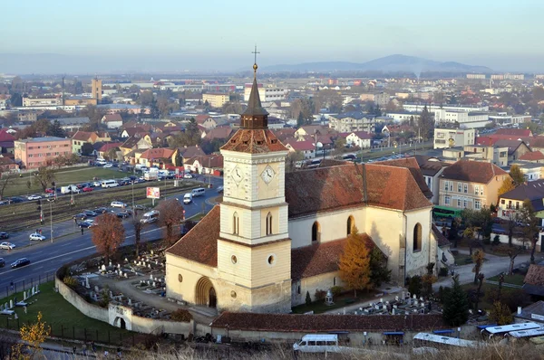
<path fill-rule="evenodd" d="M 459 160 L 440 176 L 439 204 L 454 209 L 480 210 L 497 204 L 500 185 L 508 173 L 482 161 Z"/>

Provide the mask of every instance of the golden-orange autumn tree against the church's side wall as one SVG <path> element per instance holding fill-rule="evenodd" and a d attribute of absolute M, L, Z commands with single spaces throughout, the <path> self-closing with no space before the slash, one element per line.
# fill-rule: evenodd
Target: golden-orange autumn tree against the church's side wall
<path fill-rule="evenodd" d="M 340 278 L 348 287 L 354 289 L 355 298 L 357 289 L 370 289 L 370 251 L 363 235 L 354 227 L 345 242 L 344 252 L 339 261 Z"/>

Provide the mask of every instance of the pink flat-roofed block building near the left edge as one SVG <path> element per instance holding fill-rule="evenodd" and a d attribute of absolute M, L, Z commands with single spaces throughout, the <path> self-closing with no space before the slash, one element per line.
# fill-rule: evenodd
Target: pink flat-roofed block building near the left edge
<path fill-rule="evenodd" d="M 48 166 L 54 157 L 72 154 L 72 139 L 63 137 L 30 137 L 15 141 L 15 161 L 27 169 Z"/>

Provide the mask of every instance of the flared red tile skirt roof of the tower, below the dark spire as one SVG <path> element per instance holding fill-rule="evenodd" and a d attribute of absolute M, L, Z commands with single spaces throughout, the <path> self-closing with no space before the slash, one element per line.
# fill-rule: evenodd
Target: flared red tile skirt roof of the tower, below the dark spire
<path fill-rule="evenodd" d="M 287 151 L 276 135 L 267 128 L 240 128 L 221 149 L 249 154 Z"/>

